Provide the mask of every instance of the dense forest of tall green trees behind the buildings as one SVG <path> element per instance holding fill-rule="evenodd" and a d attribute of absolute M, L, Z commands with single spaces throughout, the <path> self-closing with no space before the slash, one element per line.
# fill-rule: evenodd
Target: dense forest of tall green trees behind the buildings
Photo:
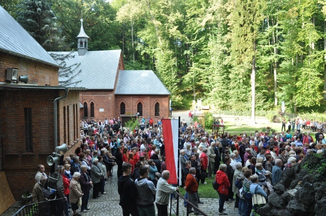
<path fill-rule="evenodd" d="M 175 109 L 324 112 L 326 0 L 0 0 L 48 51 L 121 49 Z M 94 74 L 96 75 L 96 74 Z M 155 83 L 139 83 L 139 87 Z"/>

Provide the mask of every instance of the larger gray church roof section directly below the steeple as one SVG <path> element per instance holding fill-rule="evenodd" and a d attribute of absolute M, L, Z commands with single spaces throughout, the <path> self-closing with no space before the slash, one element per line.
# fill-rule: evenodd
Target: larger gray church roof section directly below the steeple
<path fill-rule="evenodd" d="M 70 52 L 49 52 L 56 54 L 69 54 Z M 67 66 L 80 63 L 79 73 L 72 81 L 81 80 L 74 87 L 85 87 L 87 89 L 113 89 L 116 73 L 118 70 L 121 49 L 87 51 L 85 55 L 78 55 L 74 51 L 74 57 L 66 60 Z M 66 77 L 64 78 L 66 79 Z M 59 76 L 60 81 L 60 76 Z"/>

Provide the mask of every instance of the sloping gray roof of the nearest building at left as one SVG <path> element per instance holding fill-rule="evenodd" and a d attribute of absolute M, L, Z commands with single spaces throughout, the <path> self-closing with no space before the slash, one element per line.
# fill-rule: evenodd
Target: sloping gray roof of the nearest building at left
<path fill-rule="evenodd" d="M 47 51 L 1 5 L 0 51 L 59 67 Z"/>

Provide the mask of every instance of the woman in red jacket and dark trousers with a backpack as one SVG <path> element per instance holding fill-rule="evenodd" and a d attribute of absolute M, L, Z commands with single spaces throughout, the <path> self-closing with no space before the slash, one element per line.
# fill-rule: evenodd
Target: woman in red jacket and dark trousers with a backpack
<path fill-rule="evenodd" d="M 216 172 L 215 180 L 219 184 L 219 188 L 217 189 L 217 192 L 219 193 L 219 214 L 227 215 L 228 213 L 223 212 L 225 210 L 224 208 L 224 202 L 228 198 L 229 193 L 229 187 L 230 187 L 230 181 L 228 179 L 228 176 L 226 175 L 225 171 L 227 168 L 226 164 L 221 164 L 220 169 Z"/>

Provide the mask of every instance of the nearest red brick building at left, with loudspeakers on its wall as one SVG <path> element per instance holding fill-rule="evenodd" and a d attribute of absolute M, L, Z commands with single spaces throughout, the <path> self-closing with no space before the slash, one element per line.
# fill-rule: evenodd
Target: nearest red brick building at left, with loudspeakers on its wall
<path fill-rule="evenodd" d="M 46 159 L 56 144 L 74 150 L 81 88 L 58 86 L 58 63 L 1 6 L 0 19 L 0 168 L 19 199 L 24 189 L 32 191 L 39 164 L 49 172 Z M 55 143 L 54 100 L 66 92 L 57 102 Z"/>

